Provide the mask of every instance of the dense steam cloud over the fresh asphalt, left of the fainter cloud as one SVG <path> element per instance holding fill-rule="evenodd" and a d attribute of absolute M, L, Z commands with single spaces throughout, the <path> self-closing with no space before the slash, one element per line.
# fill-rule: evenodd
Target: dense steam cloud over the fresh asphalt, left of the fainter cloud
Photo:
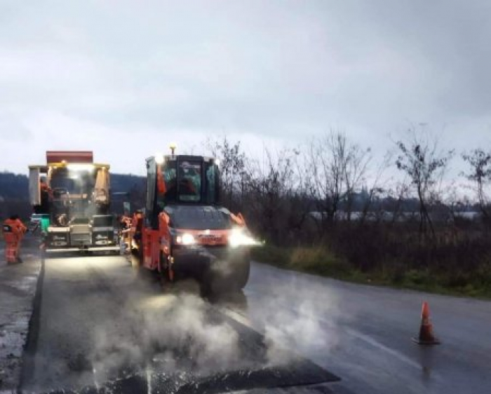
<path fill-rule="evenodd" d="M 133 291 L 122 308 L 123 324 L 102 325 L 95 331 L 91 358 L 97 381 L 149 363 L 163 374 L 194 376 L 248 364 L 236 330 L 210 317 L 210 306 L 198 294 Z"/>

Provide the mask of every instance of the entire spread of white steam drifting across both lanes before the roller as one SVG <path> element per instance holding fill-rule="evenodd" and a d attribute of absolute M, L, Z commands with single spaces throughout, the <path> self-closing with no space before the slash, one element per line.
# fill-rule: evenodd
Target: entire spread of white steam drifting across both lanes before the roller
<path fill-rule="evenodd" d="M 268 283 L 267 278 L 263 283 Z M 257 296 L 238 294 L 249 304 L 248 311 L 242 311 L 236 301 L 210 306 L 196 283 L 181 285 L 184 291 L 173 287 L 163 294 L 159 285 L 148 280 L 115 281 L 108 286 L 109 296 L 99 299 L 94 292 L 92 308 L 100 311 L 88 325 L 86 348 L 74 346 L 69 360 L 46 360 L 46 365 L 58 370 L 59 380 L 38 384 L 48 389 L 67 383 L 74 388 L 101 386 L 147 370 L 175 381 L 177 390 L 181 383 L 200 377 L 288 365 L 297 358 L 291 349 L 327 353 L 337 344 L 336 335 L 326 332 L 325 322 L 318 320 L 319 315 L 335 318 L 337 314 L 337 299 L 325 294 L 325 289 L 272 281 Z M 250 338 L 244 338 L 236 325 L 241 321 L 232 322 L 219 312 L 225 308 L 248 315 L 250 325 L 264 332 L 262 344 L 247 343 Z"/>

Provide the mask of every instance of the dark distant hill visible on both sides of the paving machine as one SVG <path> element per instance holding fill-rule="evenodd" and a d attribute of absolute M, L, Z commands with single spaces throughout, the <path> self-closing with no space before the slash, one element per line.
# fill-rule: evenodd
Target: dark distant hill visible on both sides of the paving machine
<path fill-rule="evenodd" d="M 111 191 L 113 210 L 123 212 L 123 201 L 131 203 L 131 209 L 144 205 L 145 178 L 130 174 L 112 174 Z M 126 193 L 122 195 L 121 193 Z M 29 204 L 29 179 L 26 175 L 0 172 L 0 219 L 17 213 L 22 219 L 28 219 L 32 208 Z"/>

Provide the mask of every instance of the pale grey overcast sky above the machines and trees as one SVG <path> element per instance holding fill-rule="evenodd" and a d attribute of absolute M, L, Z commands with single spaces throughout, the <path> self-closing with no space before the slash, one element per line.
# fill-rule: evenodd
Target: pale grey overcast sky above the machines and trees
<path fill-rule="evenodd" d="M 491 148 L 491 1 L 0 0 L 0 170 L 330 128 L 381 153 L 419 123 Z"/>

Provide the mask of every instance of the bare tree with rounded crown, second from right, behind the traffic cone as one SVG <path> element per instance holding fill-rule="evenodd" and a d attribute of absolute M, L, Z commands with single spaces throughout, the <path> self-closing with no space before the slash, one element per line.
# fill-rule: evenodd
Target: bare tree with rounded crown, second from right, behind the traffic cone
<path fill-rule="evenodd" d="M 435 186 L 443 177 L 453 151 L 438 151 L 438 140 L 427 133 L 409 130 L 411 138 L 407 142 L 396 142 L 399 156 L 396 159 L 398 170 L 408 175 L 415 187 L 419 200 L 419 234 L 425 236 L 429 229 L 433 238 L 435 229 L 428 212 L 429 200 L 434 196 Z"/>

